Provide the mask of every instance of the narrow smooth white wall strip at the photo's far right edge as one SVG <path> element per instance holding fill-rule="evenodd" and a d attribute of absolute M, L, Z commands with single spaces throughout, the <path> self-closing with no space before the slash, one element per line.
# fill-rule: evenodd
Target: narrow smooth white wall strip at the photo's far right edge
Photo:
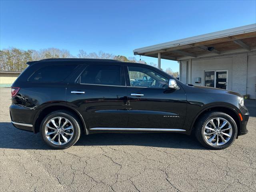
<path fill-rule="evenodd" d="M 247 94 L 251 99 L 256 99 L 256 54 L 248 54 L 247 65 Z"/>

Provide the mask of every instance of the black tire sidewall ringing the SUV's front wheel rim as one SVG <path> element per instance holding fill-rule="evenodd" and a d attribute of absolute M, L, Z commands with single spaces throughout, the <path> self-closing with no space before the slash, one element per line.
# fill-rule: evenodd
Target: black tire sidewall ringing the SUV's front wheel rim
<path fill-rule="evenodd" d="M 206 123 L 212 119 L 212 118 L 224 118 L 226 119 L 230 125 L 232 126 L 232 136 L 230 138 L 230 140 L 228 142 L 226 142 L 225 144 L 223 145 L 220 145 L 220 146 L 214 146 L 214 145 L 211 145 L 209 144 L 207 141 L 206 141 L 206 138 L 204 137 L 204 126 L 206 126 Z M 233 120 L 233 118 L 227 114 L 224 114 L 224 113 L 218 113 L 218 112 L 215 112 L 215 113 L 212 113 L 210 114 L 205 120 L 204 122 L 202 123 L 202 126 L 201 126 L 201 130 L 200 130 L 200 136 L 202 137 L 202 140 L 203 142 L 209 146 L 210 148 L 213 148 L 213 149 L 223 149 L 223 148 L 227 148 L 228 146 L 230 146 L 234 140 L 236 139 L 236 136 L 237 136 L 237 126 L 236 126 L 236 122 Z"/>

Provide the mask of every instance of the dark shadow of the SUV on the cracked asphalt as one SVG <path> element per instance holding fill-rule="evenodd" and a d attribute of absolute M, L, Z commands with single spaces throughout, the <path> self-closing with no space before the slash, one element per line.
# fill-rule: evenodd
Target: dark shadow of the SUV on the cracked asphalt
<path fill-rule="evenodd" d="M 40 133 L 34 134 L 19 130 L 9 122 L 0 122 L 0 148 L 51 150 L 41 139 Z M 191 135 L 176 133 L 141 134 L 90 134 L 82 135 L 75 146 L 151 146 L 161 148 L 206 149 Z"/>

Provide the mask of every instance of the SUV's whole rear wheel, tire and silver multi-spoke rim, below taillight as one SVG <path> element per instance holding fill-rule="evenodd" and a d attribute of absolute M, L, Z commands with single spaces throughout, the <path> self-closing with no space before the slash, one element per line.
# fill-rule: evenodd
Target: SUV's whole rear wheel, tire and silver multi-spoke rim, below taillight
<path fill-rule="evenodd" d="M 81 134 L 77 117 L 65 110 L 48 114 L 40 125 L 42 138 L 54 149 L 65 149 L 74 145 Z"/>

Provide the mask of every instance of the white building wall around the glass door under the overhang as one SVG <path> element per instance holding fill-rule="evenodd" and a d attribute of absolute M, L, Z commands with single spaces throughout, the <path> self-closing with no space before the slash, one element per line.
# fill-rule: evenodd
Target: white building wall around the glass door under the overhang
<path fill-rule="evenodd" d="M 181 81 L 187 83 L 187 62 L 181 61 Z M 228 70 L 227 90 L 255 99 L 256 52 L 192 59 L 192 84 L 204 86 L 204 71 Z M 200 77 L 201 83 L 195 83 Z"/>

